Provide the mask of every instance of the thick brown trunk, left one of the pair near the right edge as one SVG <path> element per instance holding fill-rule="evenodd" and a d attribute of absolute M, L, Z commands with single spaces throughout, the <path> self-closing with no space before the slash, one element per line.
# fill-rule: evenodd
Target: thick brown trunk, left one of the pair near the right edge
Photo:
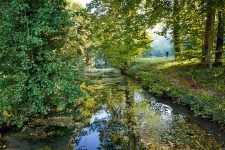
<path fill-rule="evenodd" d="M 211 52 L 213 50 L 213 32 L 215 22 L 215 10 L 213 4 L 209 1 L 207 7 L 207 18 L 205 25 L 204 46 L 202 49 L 202 65 L 205 67 L 211 66 Z"/>

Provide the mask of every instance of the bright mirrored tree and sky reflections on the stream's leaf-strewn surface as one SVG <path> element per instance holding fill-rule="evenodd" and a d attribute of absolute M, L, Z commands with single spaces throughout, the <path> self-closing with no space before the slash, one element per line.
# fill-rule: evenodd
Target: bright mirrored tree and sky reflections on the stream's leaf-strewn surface
<path fill-rule="evenodd" d="M 96 105 L 86 105 L 95 115 L 77 133 L 74 150 L 223 148 L 208 132 L 188 122 L 190 116 L 157 102 L 130 79 L 93 90 L 98 86 L 91 85 Z"/>

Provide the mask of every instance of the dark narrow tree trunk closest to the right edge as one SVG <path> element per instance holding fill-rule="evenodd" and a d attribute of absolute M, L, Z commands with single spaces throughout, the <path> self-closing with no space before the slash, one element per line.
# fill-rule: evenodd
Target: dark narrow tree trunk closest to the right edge
<path fill-rule="evenodd" d="M 223 12 L 218 12 L 218 31 L 215 52 L 215 66 L 222 66 L 222 53 L 223 53 L 223 35 L 224 35 L 224 16 Z"/>

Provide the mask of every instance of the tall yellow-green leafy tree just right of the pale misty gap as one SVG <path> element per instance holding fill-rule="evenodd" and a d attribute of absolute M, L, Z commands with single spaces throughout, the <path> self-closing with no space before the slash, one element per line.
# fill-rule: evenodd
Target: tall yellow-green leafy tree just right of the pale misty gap
<path fill-rule="evenodd" d="M 159 2 L 158 2 L 159 3 Z M 164 4 L 167 12 L 162 17 L 162 35 L 172 35 L 174 55 L 177 59 L 200 57 L 204 16 L 195 0 L 173 0 Z M 197 55 L 198 54 L 198 55 Z"/>

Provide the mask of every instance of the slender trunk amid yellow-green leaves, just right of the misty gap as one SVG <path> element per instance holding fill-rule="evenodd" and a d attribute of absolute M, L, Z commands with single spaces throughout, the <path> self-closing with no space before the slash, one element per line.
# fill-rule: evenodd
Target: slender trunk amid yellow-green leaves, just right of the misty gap
<path fill-rule="evenodd" d="M 180 25 L 179 25 L 179 1 L 174 0 L 173 4 L 173 46 L 175 59 L 180 55 Z"/>

